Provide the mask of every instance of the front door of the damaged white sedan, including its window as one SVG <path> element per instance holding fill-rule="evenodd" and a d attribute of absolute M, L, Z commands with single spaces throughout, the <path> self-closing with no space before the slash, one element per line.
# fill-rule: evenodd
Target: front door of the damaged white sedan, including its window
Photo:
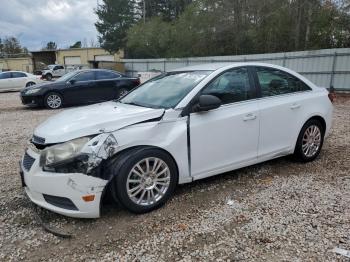
<path fill-rule="evenodd" d="M 201 94 L 215 95 L 223 105 L 190 114 L 192 176 L 200 179 L 256 161 L 260 117 L 249 70 L 230 69 Z"/>

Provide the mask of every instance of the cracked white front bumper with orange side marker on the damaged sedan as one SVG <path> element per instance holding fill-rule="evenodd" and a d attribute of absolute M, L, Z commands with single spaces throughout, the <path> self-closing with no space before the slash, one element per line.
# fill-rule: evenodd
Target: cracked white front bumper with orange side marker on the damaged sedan
<path fill-rule="evenodd" d="M 108 180 L 81 173 L 43 171 L 39 162 L 40 153 L 29 147 L 20 164 L 22 183 L 32 202 L 65 216 L 100 216 L 101 197 Z"/>

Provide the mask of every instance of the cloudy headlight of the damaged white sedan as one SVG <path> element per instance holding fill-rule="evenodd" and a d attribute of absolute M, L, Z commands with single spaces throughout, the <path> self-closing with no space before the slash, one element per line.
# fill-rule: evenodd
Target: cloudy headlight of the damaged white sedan
<path fill-rule="evenodd" d="M 44 149 L 41 152 L 40 165 L 44 167 L 54 167 L 73 160 L 81 155 L 80 151 L 90 139 L 90 137 L 77 138 Z"/>

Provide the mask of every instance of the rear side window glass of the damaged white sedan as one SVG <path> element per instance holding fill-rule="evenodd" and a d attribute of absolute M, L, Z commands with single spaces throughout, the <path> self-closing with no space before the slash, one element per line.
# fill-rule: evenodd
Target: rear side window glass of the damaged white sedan
<path fill-rule="evenodd" d="M 284 95 L 311 90 L 303 81 L 295 76 L 274 68 L 256 68 L 261 96 Z"/>

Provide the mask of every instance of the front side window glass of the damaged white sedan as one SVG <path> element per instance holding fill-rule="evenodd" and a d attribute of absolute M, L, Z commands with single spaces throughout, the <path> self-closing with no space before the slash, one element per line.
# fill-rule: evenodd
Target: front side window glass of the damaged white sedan
<path fill-rule="evenodd" d="M 245 101 L 253 98 L 247 68 L 226 71 L 206 86 L 202 94 L 214 95 L 223 104 Z"/>

